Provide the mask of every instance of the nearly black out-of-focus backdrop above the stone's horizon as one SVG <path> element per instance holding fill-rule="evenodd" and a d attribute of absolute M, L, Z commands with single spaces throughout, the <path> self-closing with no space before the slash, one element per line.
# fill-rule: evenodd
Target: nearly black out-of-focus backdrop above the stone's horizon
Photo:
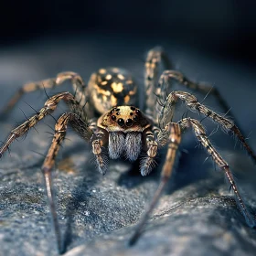
<path fill-rule="evenodd" d="M 255 1 L 5 1 L 2 48 L 42 37 L 165 37 L 254 66 Z"/>

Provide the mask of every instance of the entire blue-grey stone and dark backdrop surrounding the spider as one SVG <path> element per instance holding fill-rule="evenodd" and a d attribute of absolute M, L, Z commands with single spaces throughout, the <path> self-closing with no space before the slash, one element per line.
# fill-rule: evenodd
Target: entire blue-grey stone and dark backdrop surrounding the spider
<path fill-rule="evenodd" d="M 88 80 L 91 72 L 101 67 L 123 67 L 130 69 L 142 86 L 146 50 L 162 45 L 176 69 L 191 80 L 207 81 L 219 89 L 256 150 L 255 2 L 147 2 L 5 2 L 0 16 L 0 108 L 25 82 L 54 77 L 63 70 L 77 71 Z M 69 84 L 55 91 L 63 90 L 70 91 Z M 197 96 L 200 100 L 204 97 Z M 26 119 L 23 112 L 33 114 L 27 104 L 38 110 L 46 99 L 42 91 L 23 97 L 14 112 L 1 121 L 0 140 L 5 140 L 16 122 Z M 204 102 L 223 112 L 210 96 Z M 59 113 L 63 108 L 61 105 Z M 181 109 L 180 116 L 185 112 Z M 32 129 L 26 140 L 11 146 L 11 155 L 1 159 L 3 255 L 57 253 L 40 173 L 43 156 L 38 155 L 44 155 L 50 144 L 44 133 L 51 132 L 46 123 L 53 127 L 54 120 L 48 118 L 37 125 L 37 131 Z M 211 133 L 215 126 L 208 120 L 204 123 Z M 192 133 L 182 144 L 189 154 L 181 156 L 151 228 L 132 251 L 125 247 L 134 229 L 129 226 L 139 219 L 153 195 L 160 168 L 152 176 L 141 177 L 127 172 L 126 165 L 112 163 L 110 172 L 102 177 L 95 171 L 90 147 L 74 133 L 68 133 L 68 138 L 55 174 L 67 251 L 85 243 L 88 255 L 144 255 L 145 251 L 152 255 L 253 255 L 255 231 L 246 226 L 234 202 L 229 201 L 221 172 L 214 172 L 210 159 L 204 163 L 206 154 L 195 148 Z M 255 166 L 220 129 L 211 139 L 235 171 L 255 215 Z M 171 211 L 179 204 L 183 205 Z M 102 236 L 105 233 L 109 234 L 106 238 Z"/>

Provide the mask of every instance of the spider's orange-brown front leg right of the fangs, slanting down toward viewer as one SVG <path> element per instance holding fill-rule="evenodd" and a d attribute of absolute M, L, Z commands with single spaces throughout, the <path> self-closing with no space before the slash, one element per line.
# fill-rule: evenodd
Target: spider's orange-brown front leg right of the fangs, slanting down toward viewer
<path fill-rule="evenodd" d="M 167 139 L 168 139 L 168 150 L 165 157 L 165 165 L 163 166 L 162 173 L 161 173 L 160 184 L 157 190 L 155 191 L 155 195 L 151 203 L 149 204 L 148 208 L 146 208 L 144 212 L 144 216 L 142 217 L 138 226 L 136 227 L 135 232 L 133 233 L 133 236 L 129 240 L 129 245 L 133 245 L 142 234 L 146 220 L 148 219 L 152 210 L 155 208 L 155 205 L 158 202 L 165 188 L 165 185 L 167 184 L 167 181 L 169 180 L 169 177 L 172 174 L 172 171 L 175 165 L 177 149 L 181 141 L 180 126 L 177 123 L 169 123 L 165 126 L 165 132 L 167 132 L 165 133 L 165 136 L 167 135 Z M 158 133 L 158 138 L 160 138 L 162 135 L 163 133 L 161 132 Z"/>

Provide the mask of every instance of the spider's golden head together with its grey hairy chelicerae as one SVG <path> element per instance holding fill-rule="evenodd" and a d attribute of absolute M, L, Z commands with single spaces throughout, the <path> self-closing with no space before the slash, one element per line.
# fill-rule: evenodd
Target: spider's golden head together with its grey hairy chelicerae
<path fill-rule="evenodd" d="M 141 154 L 146 131 L 151 125 L 145 115 L 133 106 L 113 107 L 102 114 L 97 122 L 98 128 L 109 133 L 109 157 L 117 159 L 124 155 L 130 161 L 136 160 Z"/>

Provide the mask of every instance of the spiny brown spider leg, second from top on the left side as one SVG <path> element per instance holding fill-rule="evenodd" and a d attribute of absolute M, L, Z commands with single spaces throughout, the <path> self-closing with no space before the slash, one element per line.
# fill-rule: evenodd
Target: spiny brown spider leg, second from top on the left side
<path fill-rule="evenodd" d="M 30 117 L 25 123 L 22 123 L 18 127 L 16 127 L 9 136 L 7 137 L 7 140 L 5 141 L 5 144 L 2 145 L 0 148 L 0 158 L 5 153 L 5 151 L 8 149 L 9 145 L 16 140 L 16 138 L 24 135 L 27 133 L 27 131 L 34 127 L 41 119 L 43 119 L 45 116 L 47 116 L 50 112 L 53 112 L 59 103 L 59 101 L 65 101 L 71 112 L 77 113 L 80 115 L 80 118 L 83 120 L 84 123 L 86 123 L 85 127 L 89 127 L 89 120 L 86 115 L 86 112 L 83 111 L 82 107 L 80 106 L 80 103 L 76 101 L 74 96 L 70 94 L 69 92 L 61 92 L 59 94 L 56 94 L 48 99 L 48 101 L 45 102 L 44 107 L 37 112 L 37 114 Z M 91 134 L 91 130 L 87 129 L 87 132 Z"/>

